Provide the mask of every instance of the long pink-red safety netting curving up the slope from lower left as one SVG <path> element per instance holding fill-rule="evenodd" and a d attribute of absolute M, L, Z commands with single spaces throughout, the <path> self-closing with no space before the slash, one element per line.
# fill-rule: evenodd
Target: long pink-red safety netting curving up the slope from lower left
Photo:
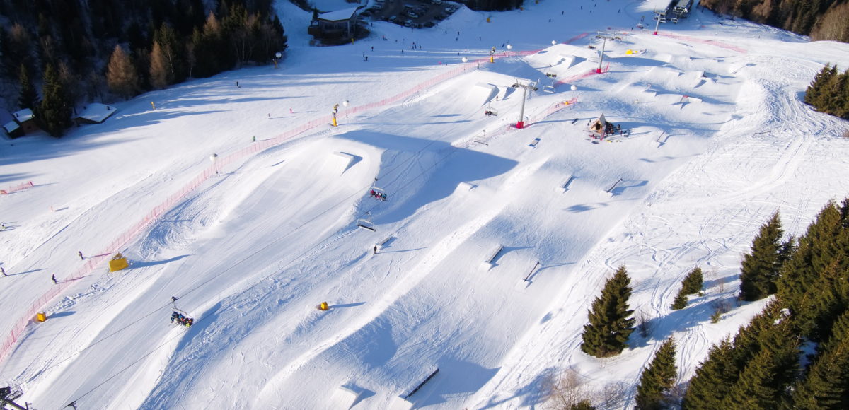
<path fill-rule="evenodd" d="M 587 36 L 587 33 L 583 33 L 582 35 L 572 37 L 567 42 L 573 42 L 577 39 L 580 39 L 580 38 L 583 38 L 583 37 L 586 37 L 586 36 Z M 510 53 L 510 55 L 528 55 L 528 54 L 537 53 L 537 52 L 538 52 L 538 50 L 532 51 L 532 52 L 514 52 L 514 53 Z M 503 58 L 503 57 L 506 57 L 506 56 L 507 56 L 507 54 L 504 54 L 504 55 L 498 56 L 498 58 Z M 454 76 L 458 76 L 458 75 L 464 73 L 466 70 L 471 70 L 473 67 L 476 67 L 479 63 L 485 62 L 485 61 L 488 61 L 488 59 L 477 59 L 477 60 L 474 60 L 474 61 L 469 61 L 468 63 L 457 65 L 450 70 L 445 70 L 441 74 L 439 74 L 439 75 L 437 75 L 433 78 L 430 78 L 430 80 L 419 83 L 419 85 L 417 85 L 413 88 L 410 88 L 406 91 L 403 91 L 402 93 L 397 93 L 396 95 L 393 95 L 389 98 L 383 98 L 380 101 L 375 101 L 374 103 L 363 104 L 363 105 L 360 105 L 360 106 L 357 106 L 357 107 L 354 107 L 354 108 L 351 108 L 351 109 L 347 109 L 345 111 L 345 114 L 356 115 L 357 113 L 361 113 L 363 111 L 383 107 L 383 106 L 388 105 L 388 104 L 394 104 L 398 101 L 401 101 L 404 98 L 408 98 L 408 97 L 412 96 L 415 93 L 419 93 L 426 88 L 433 87 L 433 86 L 435 86 L 436 84 L 439 84 L 442 81 L 446 81 L 450 78 L 453 78 Z M 547 111 L 548 114 L 545 114 L 545 115 L 550 115 L 551 112 L 554 112 L 556 110 L 562 110 L 562 108 L 565 108 L 565 106 L 567 106 L 566 104 L 560 104 L 560 105 L 563 105 L 563 106 L 558 108 L 558 105 L 555 104 L 554 107 L 548 109 L 548 111 L 550 111 L 550 112 Z M 554 111 L 552 111 L 552 110 L 554 110 Z M 61 294 L 65 289 L 68 289 L 70 287 L 70 285 L 73 284 L 76 281 L 76 279 L 82 278 L 82 277 L 90 274 L 91 272 L 94 272 L 95 268 L 97 268 L 98 265 L 101 264 L 101 262 L 109 260 L 110 256 L 112 255 L 113 252 L 115 252 L 115 250 L 120 250 L 121 247 L 130 243 L 133 239 L 136 239 L 136 237 L 138 237 L 139 233 L 146 230 L 153 222 L 156 221 L 157 218 L 159 218 L 160 216 L 165 214 L 167 211 L 171 210 L 171 208 L 173 208 L 174 205 L 176 205 L 179 200 L 183 199 L 183 197 L 186 196 L 186 194 L 194 191 L 195 188 L 198 188 L 200 186 L 200 184 L 204 183 L 209 177 L 216 175 L 218 173 L 218 170 L 220 170 L 222 167 L 233 164 L 233 162 L 235 162 L 236 160 L 240 160 L 240 159 L 244 158 L 245 156 L 247 156 L 249 154 L 254 154 L 254 153 L 260 152 L 264 149 L 268 149 L 270 147 L 278 145 L 280 143 L 287 142 L 291 138 L 294 138 L 295 136 L 297 136 L 297 135 L 299 135 L 303 132 L 312 130 L 313 128 L 316 128 L 318 126 L 329 126 L 331 120 L 332 120 L 331 116 L 319 118 L 317 120 L 312 120 L 312 121 L 307 122 L 306 124 L 302 124 L 301 126 L 296 126 L 295 128 L 290 129 L 287 132 L 283 132 L 282 134 L 279 134 L 278 136 L 276 136 L 274 138 L 256 141 L 254 143 L 251 143 L 245 149 L 239 149 L 238 151 L 233 152 L 231 154 L 227 154 L 227 155 L 224 155 L 222 157 L 217 157 L 215 162 L 211 166 L 207 167 L 197 177 L 194 177 L 194 179 L 192 179 L 191 181 L 186 183 L 186 185 L 184 185 L 183 188 L 180 188 L 180 189 L 177 190 L 177 192 L 171 194 L 168 198 L 166 198 L 164 201 L 162 201 L 162 203 L 160 205 L 156 205 L 153 210 L 149 211 L 147 215 L 143 216 L 143 218 L 140 219 L 138 222 L 136 222 L 132 227 L 127 228 L 127 230 L 124 231 L 124 233 L 121 233 L 121 235 L 119 235 L 118 238 L 113 240 L 112 243 L 109 246 L 106 247 L 106 249 L 108 251 L 100 252 L 101 255 L 99 255 L 99 256 L 89 257 L 87 259 L 86 263 L 82 267 L 77 269 L 76 272 L 71 273 L 70 276 L 68 276 L 66 278 L 62 278 L 59 281 L 58 284 L 55 284 L 54 286 L 52 286 L 47 292 L 44 293 L 44 295 L 39 297 L 37 300 L 33 301 L 30 308 L 27 309 L 26 312 L 24 313 L 24 315 L 18 319 L 18 322 L 15 323 L 14 326 L 12 327 L 12 329 L 9 331 L 9 334 L 6 337 L 6 340 L 3 341 L 3 347 L 2 347 L 2 349 L 0 349 L 0 362 L 5 360 L 8 353 L 12 350 L 12 347 L 14 346 L 15 342 L 17 342 L 18 339 L 20 338 L 20 334 L 22 334 L 24 332 L 24 330 L 26 329 L 26 325 L 31 323 L 31 321 L 34 319 L 34 317 L 36 316 L 36 314 L 38 312 L 43 311 L 43 309 L 45 308 L 45 306 L 48 305 L 48 302 L 50 300 L 53 300 L 54 297 Z M 508 132 L 509 128 L 510 128 L 509 126 L 505 126 L 503 131 L 500 132 L 500 133 Z M 494 135 L 491 136 L 490 138 L 492 138 L 492 137 L 494 137 Z M 23 186 L 23 185 L 32 186 L 31 183 L 21 184 L 21 186 Z M 28 187 L 25 187 L 25 188 L 28 188 Z M 24 189 L 24 188 L 20 188 L 20 189 Z M 20 190 L 20 189 L 18 189 L 18 190 Z"/>

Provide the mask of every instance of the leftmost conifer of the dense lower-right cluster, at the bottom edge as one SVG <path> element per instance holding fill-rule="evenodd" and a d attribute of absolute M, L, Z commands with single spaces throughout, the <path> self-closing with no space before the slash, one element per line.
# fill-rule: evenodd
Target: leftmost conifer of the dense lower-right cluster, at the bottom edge
<path fill-rule="evenodd" d="M 731 340 L 725 339 L 713 345 L 707 359 L 696 368 L 684 394 L 683 410 L 714 410 L 722 408 L 722 400 L 739 378 L 739 368 L 734 363 Z"/>

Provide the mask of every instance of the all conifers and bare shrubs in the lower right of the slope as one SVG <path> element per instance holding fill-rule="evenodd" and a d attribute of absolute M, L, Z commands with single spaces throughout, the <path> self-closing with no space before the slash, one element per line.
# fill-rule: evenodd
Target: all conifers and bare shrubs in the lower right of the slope
<path fill-rule="evenodd" d="M 849 408 L 849 199 L 825 205 L 798 239 L 785 238 L 773 214 L 743 256 L 739 278 L 739 300 L 773 299 L 734 337 L 712 346 L 689 383 L 678 382 L 675 340 L 662 341 L 640 374 L 635 408 Z M 672 308 L 686 307 L 687 295 L 701 294 L 702 286 L 695 267 Z M 627 348 L 640 326 L 628 306 L 631 292 L 627 269 L 619 267 L 588 312 L 583 352 L 612 357 Z M 590 410 L 590 399 L 599 401 L 575 373 L 547 389 L 558 409 Z M 616 393 L 621 401 L 624 389 Z"/>

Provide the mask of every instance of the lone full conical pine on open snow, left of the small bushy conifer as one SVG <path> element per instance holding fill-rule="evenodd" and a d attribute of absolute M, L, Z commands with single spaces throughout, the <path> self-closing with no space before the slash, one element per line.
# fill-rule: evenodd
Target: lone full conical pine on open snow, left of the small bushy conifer
<path fill-rule="evenodd" d="M 581 350 L 595 357 L 616 356 L 627 345 L 634 330 L 633 311 L 628 310 L 631 297 L 631 278 L 625 267 L 604 284 L 601 295 L 593 301 L 588 312 L 589 323 L 584 325 Z"/>

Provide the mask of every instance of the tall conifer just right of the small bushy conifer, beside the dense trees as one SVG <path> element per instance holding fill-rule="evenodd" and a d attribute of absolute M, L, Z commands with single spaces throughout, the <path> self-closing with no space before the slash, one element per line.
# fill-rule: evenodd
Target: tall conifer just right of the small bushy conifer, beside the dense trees
<path fill-rule="evenodd" d="M 761 226 L 761 232 L 751 244 L 751 254 L 743 256 L 740 272 L 740 299 L 758 300 L 776 291 L 776 280 L 783 264 L 779 213 L 775 212 L 769 222 Z"/>

